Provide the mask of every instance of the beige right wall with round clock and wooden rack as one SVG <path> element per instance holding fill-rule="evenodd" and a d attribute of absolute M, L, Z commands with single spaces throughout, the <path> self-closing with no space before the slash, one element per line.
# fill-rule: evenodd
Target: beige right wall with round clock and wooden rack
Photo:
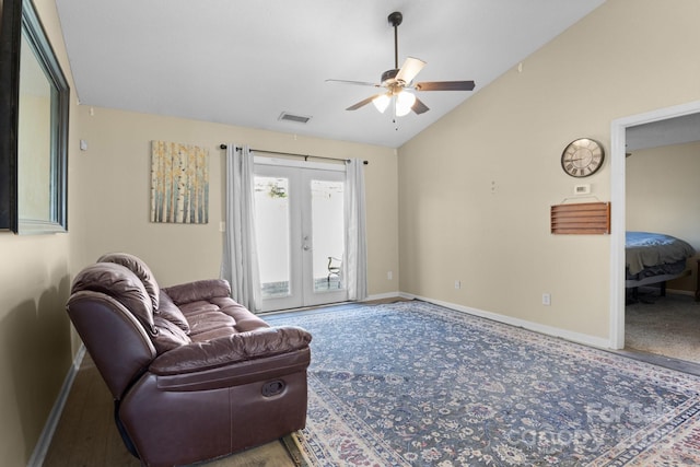
<path fill-rule="evenodd" d="M 551 235 L 549 209 L 582 182 L 608 201 L 610 165 L 576 180 L 560 154 L 700 98 L 698 15 L 696 0 L 608 0 L 400 148 L 400 290 L 606 339 L 609 237 Z"/>

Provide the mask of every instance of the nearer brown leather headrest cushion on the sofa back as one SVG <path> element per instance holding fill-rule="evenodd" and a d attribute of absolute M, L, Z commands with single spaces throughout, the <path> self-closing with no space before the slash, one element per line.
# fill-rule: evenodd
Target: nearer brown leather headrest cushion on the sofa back
<path fill-rule="evenodd" d="M 73 279 L 71 293 L 83 290 L 112 296 L 129 310 L 151 336 L 155 334 L 153 302 L 141 279 L 131 270 L 115 262 L 88 266 Z"/>

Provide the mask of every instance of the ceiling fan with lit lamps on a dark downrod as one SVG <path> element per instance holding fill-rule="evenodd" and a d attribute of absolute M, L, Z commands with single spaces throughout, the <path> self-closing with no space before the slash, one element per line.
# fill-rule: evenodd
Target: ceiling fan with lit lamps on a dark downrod
<path fill-rule="evenodd" d="M 425 62 L 418 58 L 408 57 L 401 68 L 398 68 L 398 26 L 404 21 L 404 15 L 395 11 L 388 15 L 388 21 L 394 26 L 394 68 L 382 73 L 381 84 L 370 83 L 366 81 L 349 81 L 349 80 L 326 80 L 331 82 L 359 84 L 364 86 L 384 87 L 386 92 L 375 94 L 365 100 L 351 105 L 346 110 L 357 110 L 360 107 L 373 103 L 381 113 L 384 113 L 389 104 L 394 103 L 394 113 L 396 117 L 402 117 L 413 110 L 416 114 L 423 114 L 430 108 L 423 104 L 416 94 L 407 90 L 416 91 L 471 91 L 474 90 L 474 81 L 423 81 L 413 84 L 412 81 L 423 69 Z"/>

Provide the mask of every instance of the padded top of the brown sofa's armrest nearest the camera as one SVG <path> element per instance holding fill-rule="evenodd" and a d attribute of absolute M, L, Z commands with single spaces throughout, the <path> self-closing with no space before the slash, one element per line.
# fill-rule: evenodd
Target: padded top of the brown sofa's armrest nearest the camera
<path fill-rule="evenodd" d="M 201 372 L 301 350 L 311 339 L 311 334 L 295 326 L 238 332 L 170 350 L 153 360 L 149 370 L 159 376 Z"/>

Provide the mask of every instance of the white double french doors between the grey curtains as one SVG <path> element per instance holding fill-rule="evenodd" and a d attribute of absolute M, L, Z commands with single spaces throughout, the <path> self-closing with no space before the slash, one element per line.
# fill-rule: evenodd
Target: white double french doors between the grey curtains
<path fill-rule="evenodd" d="M 346 301 L 345 167 L 275 161 L 255 164 L 262 311 Z"/>

